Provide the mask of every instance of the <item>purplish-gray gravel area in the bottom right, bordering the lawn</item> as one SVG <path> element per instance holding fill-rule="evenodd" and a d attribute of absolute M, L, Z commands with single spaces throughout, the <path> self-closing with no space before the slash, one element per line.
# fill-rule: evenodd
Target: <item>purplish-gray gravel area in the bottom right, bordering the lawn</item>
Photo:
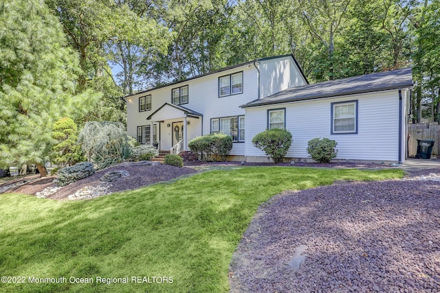
<path fill-rule="evenodd" d="M 440 182 L 287 191 L 260 207 L 230 271 L 231 292 L 440 292 Z"/>

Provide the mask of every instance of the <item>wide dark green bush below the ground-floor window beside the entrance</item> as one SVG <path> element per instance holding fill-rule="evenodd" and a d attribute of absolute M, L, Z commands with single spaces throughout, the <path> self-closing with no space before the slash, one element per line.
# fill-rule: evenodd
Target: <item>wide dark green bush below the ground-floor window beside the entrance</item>
<path fill-rule="evenodd" d="M 226 161 L 232 150 L 232 137 L 219 133 L 208 134 L 192 139 L 188 148 L 200 154 L 204 161 Z"/>

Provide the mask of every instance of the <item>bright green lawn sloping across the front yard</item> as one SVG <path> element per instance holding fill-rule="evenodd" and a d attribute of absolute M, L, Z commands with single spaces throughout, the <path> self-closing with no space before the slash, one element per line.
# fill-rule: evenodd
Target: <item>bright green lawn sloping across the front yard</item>
<path fill-rule="evenodd" d="M 401 178 L 401 170 L 239 167 L 96 200 L 0 195 L 1 292 L 227 292 L 228 266 L 259 204 L 333 180 Z M 96 283 L 96 277 L 129 283 Z M 131 277 L 173 277 L 132 283 Z M 65 283 L 28 283 L 28 277 Z M 69 283 L 69 277 L 94 283 Z"/>

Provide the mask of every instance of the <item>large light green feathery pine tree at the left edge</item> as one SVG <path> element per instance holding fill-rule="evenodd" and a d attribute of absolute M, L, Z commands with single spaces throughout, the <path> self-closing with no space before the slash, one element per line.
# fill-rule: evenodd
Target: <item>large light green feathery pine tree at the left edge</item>
<path fill-rule="evenodd" d="M 79 117 L 98 95 L 75 95 L 78 60 L 44 1 L 0 1 L 0 27 L 0 165 L 42 167 L 55 121 Z"/>

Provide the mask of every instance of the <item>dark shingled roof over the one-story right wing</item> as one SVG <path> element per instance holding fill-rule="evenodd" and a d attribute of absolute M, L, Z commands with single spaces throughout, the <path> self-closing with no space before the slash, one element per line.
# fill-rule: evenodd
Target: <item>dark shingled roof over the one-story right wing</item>
<path fill-rule="evenodd" d="M 410 86 L 412 86 L 412 69 L 408 67 L 393 71 L 359 75 L 352 78 L 343 78 L 340 80 L 306 84 L 305 86 L 296 86 L 274 93 L 263 99 L 256 99 L 248 104 L 242 105 L 241 108 L 295 102 L 306 99 L 353 95 L 356 93 L 371 93 Z"/>

